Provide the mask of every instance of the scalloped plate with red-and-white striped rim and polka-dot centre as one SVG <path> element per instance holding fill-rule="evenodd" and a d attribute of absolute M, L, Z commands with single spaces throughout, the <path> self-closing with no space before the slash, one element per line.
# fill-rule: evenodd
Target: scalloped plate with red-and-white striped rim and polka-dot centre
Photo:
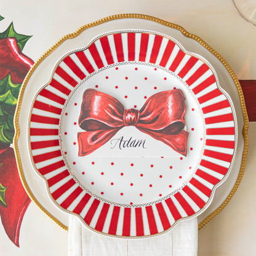
<path fill-rule="evenodd" d="M 138 110 L 151 95 L 182 90 L 186 156 L 135 127 L 78 156 L 86 89 Z M 145 144 L 124 146 L 121 138 Z M 230 173 L 237 138 L 233 103 L 207 60 L 165 34 L 120 30 L 60 58 L 31 104 L 28 144 L 55 205 L 97 233 L 138 238 L 165 233 L 209 206 Z"/>

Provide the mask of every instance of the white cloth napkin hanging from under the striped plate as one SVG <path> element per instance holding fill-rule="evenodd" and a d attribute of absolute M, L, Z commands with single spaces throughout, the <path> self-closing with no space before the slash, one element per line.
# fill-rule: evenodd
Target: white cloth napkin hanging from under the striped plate
<path fill-rule="evenodd" d="M 196 256 L 198 219 L 178 223 L 173 231 L 148 239 L 116 239 L 87 230 L 70 216 L 68 256 Z"/>

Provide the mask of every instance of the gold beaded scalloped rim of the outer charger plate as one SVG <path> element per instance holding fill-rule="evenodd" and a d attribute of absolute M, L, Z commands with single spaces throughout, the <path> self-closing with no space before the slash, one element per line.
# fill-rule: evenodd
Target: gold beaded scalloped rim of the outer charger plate
<path fill-rule="evenodd" d="M 30 196 L 30 198 L 34 202 L 34 204 L 36 204 L 36 206 L 42 212 L 44 212 L 44 214 L 46 214 L 50 219 L 52 219 L 63 230 L 68 231 L 68 226 L 63 225 L 63 223 L 60 222 L 60 220 L 58 220 L 52 214 L 50 214 L 38 202 L 38 200 L 34 197 L 33 193 L 31 192 L 28 184 L 26 183 L 25 175 L 24 175 L 23 169 L 22 169 L 22 162 L 20 160 L 20 154 L 18 152 L 18 137 L 20 136 L 20 127 L 18 126 L 18 116 L 19 116 L 19 113 L 20 113 L 21 105 L 22 105 L 22 98 L 23 98 L 23 95 L 24 95 L 26 84 L 28 83 L 29 79 L 31 78 L 31 75 L 34 73 L 34 70 L 36 70 L 36 68 L 39 66 L 39 64 L 45 58 L 47 58 L 50 54 L 52 54 L 52 52 L 54 52 L 54 50 L 57 49 L 58 46 L 60 46 L 67 39 L 76 38 L 77 36 L 79 36 L 79 34 L 81 34 L 83 31 L 87 30 L 88 28 L 92 28 L 94 26 L 100 25 L 100 24 L 105 23 L 105 22 L 110 22 L 111 20 L 119 20 L 119 19 L 122 19 L 122 18 L 141 18 L 143 20 L 150 20 L 150 21 L 153 21 L 153 22 L 157 22 L 161 25 L 169 26 L 170 28 L 174 28 L 175 30 L 179 30 L 187 38 L 191 38 L 191 39 L 194 39 L 194 40 L 198 41 L 199 44 L 201 44 L 204 48 L 209 50 L 212 54 L 215 55 L 215 57 L 218 58 L 218 60 L 220 60 L 220 62 L 223 63 L 226 70 L 228 70 L 228 72 L 230 73 L 231 78 L 233 79 L 234 84 L 236 85 L 236 89 L 238 90 L 238 95 L 239 95 L 239 99 L 240 99 L 240 102 L 241 102 L 241 108 L 242 108 L 242 116 L 244 118 L 244 127 L 242 129 L 242 136 L 244 137 L 244 151 L 242 153 L 241 168 L 239 170 L 239 175 L 238 175 L 238 178 L 236 179 L 236 183 L 234 184 L 233 189 L 231 190 L 230 194 L 228 194 L 228 197 L 225 199 L 225 201 L 216 210 L 214 210 L 214 212 L 212 212 L 212 214 L 208 215 L 201 223 L 198 224 L 198 229 L 200 230 L 204 225 L 206 225 L 212 218 L 214 218 L 217 214 L 219 214 L 226 207 L 226 205 L 230 202 L 234 193 L 238 189 L 238 186 L 241 183 L 242 177 L 244 175 L 244 170 L 246 168 L 246 158 L 247 158 L 248 146 L 249 146 L 249 137 L 247 135 L 247 130 L 248 130 L 248 127 L 249 127 L 249 119 L 248 119 L 247 111 L 246 111 L 246 103 L 244 102 L 244 94 L 242 93 L 242 88 L 241 88 L 241 85 L 238 81 L 238 78 L 234 74 L 234 71 L 231 69 L 230 65 L 228 65 L 226 60 L 222 57 L 222 55 L 218 54 L 218 52 L 216 52 L 214 49 L 212 49 L 212 47 L 210 47 L 209 44 L 207 44 L 201 38 L 199 38 L 199 36 L 196 36 L 195 34 L 188 33 L 188 31 L 186 31 L 180 25 L 176 25 L 174 23 L 166 22 L 165 20 L 161 20 L 160 18 L 156 18 L 156 17 L 153 17 L 153 16 L 144 15 L 144 14 L 111 15 L 111 16 L 102 18 L 100 20 L 97 20 L 95 22 L 89 23 L 87 25 L 81 26 L 74 33 L 66 34 L 66 36 L 63 36 L 52 47 L 50 47 L 50 49 L 48 49 L 43 55 L 41 55 L 41 57 L 34 63 L 31 70 L 28 72 L 28 74 L 26 75 L 26 78 L 23 81 L 22 88 L 20 89 L 20 94 L 19 94 L 19 97 L 18 97 L 18 103 L 17 103 L 15 116 L 14 116 L 14 126 L 15 126 L 14 151 L 15 151 L 15 156 L 16 156 L 16 161 L 17 161 L 18 172 L 20 174 L 20 178 L 22 180 L 22 183 L 23 183 L 23 186 L 26 190 L 26 193 L 28 193 L 28 195 Z"/>

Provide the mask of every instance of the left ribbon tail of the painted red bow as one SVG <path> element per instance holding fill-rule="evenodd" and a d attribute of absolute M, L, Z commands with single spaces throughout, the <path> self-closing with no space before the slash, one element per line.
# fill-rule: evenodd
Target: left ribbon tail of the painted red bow
<path fill-rule="evenodd" d="M 78 132 L 78 156 L 86 156 L 110 140 L 119 129 Z"/>

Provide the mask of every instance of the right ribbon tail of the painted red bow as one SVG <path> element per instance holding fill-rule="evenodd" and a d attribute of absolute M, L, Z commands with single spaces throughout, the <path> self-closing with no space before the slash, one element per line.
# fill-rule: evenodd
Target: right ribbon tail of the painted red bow
<path fill-rule="evenodd" d="M 137 129 L 145 132 L 156 140 L 164 142 L 173 150 L 177 151 L 183 156 L 186 156 L 186 141 L 188 139 L 188 132 L 185 130 L 182 130 L 179 134 L 161 134 L 160 132 L 154 132 L 153 130 L 139 129 L 138 127 Z"/>

